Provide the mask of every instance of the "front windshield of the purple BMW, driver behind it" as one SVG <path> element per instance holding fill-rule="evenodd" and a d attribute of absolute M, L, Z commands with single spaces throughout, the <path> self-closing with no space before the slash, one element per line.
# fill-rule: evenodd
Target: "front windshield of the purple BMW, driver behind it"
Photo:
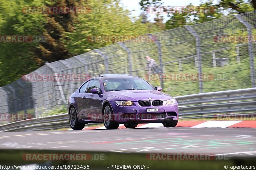
<path fill-rule="evenodd" d="M 147 81 L 138 77 L 105 78 L 103 84 L 105 91 L 155 90 Z"/>

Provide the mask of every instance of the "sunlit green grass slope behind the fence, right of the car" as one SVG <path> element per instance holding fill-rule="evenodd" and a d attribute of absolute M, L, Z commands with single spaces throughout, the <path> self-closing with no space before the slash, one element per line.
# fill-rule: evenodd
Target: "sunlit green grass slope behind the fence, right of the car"
<path fill-rule="evenodd" d="M 194 64 L 194 63 L 193 63 Z M 209 79 L 202 81 L 203 92 L 214 92 L 233 89 L 251 88 L 250 68 L 248 58 L 237 61 L 230 61 L 230 64 L 222 67 L 203 67 L 202 73 L 209 74 Z M 205 64 L 206 65 L 206 64 Z M 178 66 L 170 66 L 170 70 L 165 69 L 165 74 L 197 74 L 197 68 L 191 63 L 182 64 L 182 73 L 175 68 Z M 153 86 L 159 86 L 160 80 L 149 81 Z M 163 92 L 172 96 L 183 96 L 199 93 L 198 80 L 163 80 Z M 161 86 L 161 85 L 160 85 Z"/>

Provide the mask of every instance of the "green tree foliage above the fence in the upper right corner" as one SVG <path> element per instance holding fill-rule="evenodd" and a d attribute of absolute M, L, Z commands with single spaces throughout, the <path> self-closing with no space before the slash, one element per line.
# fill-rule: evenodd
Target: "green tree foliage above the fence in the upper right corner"
<path fill-rule="evenodd" d="M 161 0 L 141 0 L 141 9 L 147 11 L 148 7 L 159 7 L 162 5 Z M 188 10 L 190 9 L 190 11 Z M 209 10 L 210 9 L 210 10 Z M 164 9 L 169 14 L 170 19 L 165 23 L 165 29 L 173 29 L 184 25 L 198 24 L 213 19 L 218 19 L 227 14 L 243 13 L 256 9 L 255 0 L 219 0 L 214 4 L 212 0 L 202 2 L 198 7 L 192 4 L 187 5 L 181 11 L 172 11 L 172 9 Z"/>

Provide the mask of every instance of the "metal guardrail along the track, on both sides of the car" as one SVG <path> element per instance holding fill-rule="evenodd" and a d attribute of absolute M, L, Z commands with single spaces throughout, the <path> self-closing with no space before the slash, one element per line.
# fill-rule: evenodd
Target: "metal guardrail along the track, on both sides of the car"
<path fill-rule="evenodd" d="M 248 117 L 256 115 L 256 88 L 200 93 L 174 98 L 179 104 L 180 119 L 216 118 L 224 116 Z M 237 112 L 239 113 L 220 114 Z M 0 125 L 0 131 L 39 131 L 69 127 L 68 113 L 65 113 Z"/>

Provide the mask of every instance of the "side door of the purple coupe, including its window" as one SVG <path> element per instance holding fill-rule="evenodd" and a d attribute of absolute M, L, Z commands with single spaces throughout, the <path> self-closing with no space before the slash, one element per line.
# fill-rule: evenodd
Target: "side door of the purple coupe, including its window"
<path fill-rule="evenodd" d="M 86 109 L 84 116 L 89 118 L 92 121 L 102 121 L 102 116 L 100 114 L 100 95 L 101 94 L 92 94 L 90 93 L 91 89 L 100 88 L 100 81 L 97 79 L 93 79 L 90 81 L 87 90 L 86 90 L 86 98 L 84 99 L 86 103 Z"/>

